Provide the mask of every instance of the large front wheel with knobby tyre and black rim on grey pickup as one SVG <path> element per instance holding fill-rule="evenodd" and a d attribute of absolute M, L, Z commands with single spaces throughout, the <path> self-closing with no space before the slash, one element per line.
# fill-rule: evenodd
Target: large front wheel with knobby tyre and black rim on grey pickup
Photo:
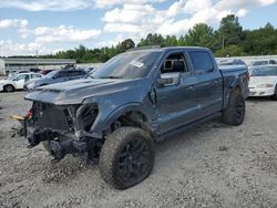
<path fill-rule="evenodd" d="M 154 144 L 146 132 L 121 127 L 106 138 L 101 149 L 100 173 L 114 188 L 125 189 L 148 177 L 154 159 Z"/>

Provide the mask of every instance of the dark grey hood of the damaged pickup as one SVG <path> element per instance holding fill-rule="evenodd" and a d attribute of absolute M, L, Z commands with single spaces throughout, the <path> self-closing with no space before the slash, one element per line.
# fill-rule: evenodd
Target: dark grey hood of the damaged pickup
<path fill-rule="evenodd" d="M 41 86 L 25 95 L 25 100 L 51 103 L 55 105 L 81 104 L 89 97 L 103 97 L 122 92 L 142 91 L 142 80 L 83 79 Z"/>

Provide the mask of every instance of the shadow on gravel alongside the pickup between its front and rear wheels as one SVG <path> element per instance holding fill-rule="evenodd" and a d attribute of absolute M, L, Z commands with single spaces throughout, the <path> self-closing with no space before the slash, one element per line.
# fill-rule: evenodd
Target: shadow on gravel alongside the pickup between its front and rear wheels
<path fill-rule="evenodd" d="M 215 141 L 215 136 L 218 132 L 232 128 L 234 127 L 223 124 L 220 119 L 217 118 L 156 143 L 156 164 L 154 169 L 161 170 L 167 166 L 174 168 L 174 166 L 179 166 L 182 163 L 185 164 L 186 157 L 192 157 L 192 162 L 194 158 L 198 159 L 202 157 L 201 155 L 203 155 L 201 150 L 205 148 L 205 145 L 208 145 L 208 148 L 212 147 L 217 152 L 224 141 Z M 218 143 L 211 145 L 211 143 L 214 142 Z M 201 154 L 197 155 L 197 153 Z M 175 160 L 183 162 L 175 163 Z"/>

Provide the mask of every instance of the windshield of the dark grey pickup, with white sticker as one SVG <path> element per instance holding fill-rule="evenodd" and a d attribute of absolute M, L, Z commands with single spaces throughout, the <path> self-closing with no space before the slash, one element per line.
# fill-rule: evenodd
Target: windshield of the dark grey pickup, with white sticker
<path fill-rule="evenodd" d="M 114 56 L 98 69 L 91 76 L 95 79 L 138 79 L 145 77 L 161 52 L 135 51 Z"/>

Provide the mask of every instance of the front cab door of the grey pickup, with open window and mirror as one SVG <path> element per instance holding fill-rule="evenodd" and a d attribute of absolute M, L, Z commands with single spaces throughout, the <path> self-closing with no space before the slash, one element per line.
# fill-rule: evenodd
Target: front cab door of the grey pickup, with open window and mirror
<path fill-rule="evenodd" d="M 163 135 L 197 119 L 198 106 L 192 89 L 196 79 L 187 67 L 184 53 L 168 54 L 160 72 L 156 98 L 158 135 Z"/>

